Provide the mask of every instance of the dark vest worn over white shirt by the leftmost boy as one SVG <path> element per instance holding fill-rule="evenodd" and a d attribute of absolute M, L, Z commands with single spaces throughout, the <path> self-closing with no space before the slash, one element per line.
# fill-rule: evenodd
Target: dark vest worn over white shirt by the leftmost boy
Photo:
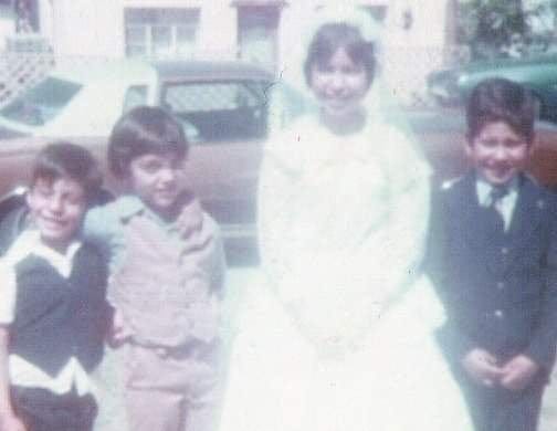
<path fill-rule="evenodd" d="M 34 255 L 19 262 L 15 274 L 11 353 L 50 376 L 59 374 L 72 356 L 92 370 L 101 361 L 109 325 L 106 266 L 98 252 L 83 245 L 69 278 Z"/>

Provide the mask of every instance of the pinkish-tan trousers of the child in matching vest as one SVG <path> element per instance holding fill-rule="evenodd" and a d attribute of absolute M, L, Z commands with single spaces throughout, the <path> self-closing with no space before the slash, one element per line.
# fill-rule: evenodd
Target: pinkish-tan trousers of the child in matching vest
<path fill-rule="evenodd" d="M 223 377 L 218 347 L 128 347 L 125 399 L 129 430 L 217 429 Z"/>

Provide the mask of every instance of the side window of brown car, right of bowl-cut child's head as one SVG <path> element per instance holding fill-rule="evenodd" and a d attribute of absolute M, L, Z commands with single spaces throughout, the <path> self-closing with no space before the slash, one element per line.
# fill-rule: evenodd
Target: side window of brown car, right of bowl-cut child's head
<path fill-rule="evenodd" d="M 162 105 L 182 123 L 195 144 L 262 139 L 267 132 L 269 83 L 231 81 L 172 83 Z"/>

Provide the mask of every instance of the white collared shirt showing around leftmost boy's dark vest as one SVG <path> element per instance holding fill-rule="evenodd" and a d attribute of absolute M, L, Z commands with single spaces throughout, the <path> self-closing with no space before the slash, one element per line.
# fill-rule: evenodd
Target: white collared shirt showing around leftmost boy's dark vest
<path fill-rule="evenodd" d="M 75 253 L 82 243 L 73 241 L 65 254 L 46 246 L 35 230 L 24 231 L 0 260 L 0 325 L 10 325 L 14 319 L 17 298 L 15 265 L 30 255 L 44 259 L 64 278 L 72 272 Z M 8 360 L 10 382 L 17 386 L 48 389 L 54 393 L 66 393 L 75 389 L 78 395 L 94 390 L 87 372 L 80 361 L 72 357 L 57 376 L 51 377 L 24 358 L 11 354 Z"/>

